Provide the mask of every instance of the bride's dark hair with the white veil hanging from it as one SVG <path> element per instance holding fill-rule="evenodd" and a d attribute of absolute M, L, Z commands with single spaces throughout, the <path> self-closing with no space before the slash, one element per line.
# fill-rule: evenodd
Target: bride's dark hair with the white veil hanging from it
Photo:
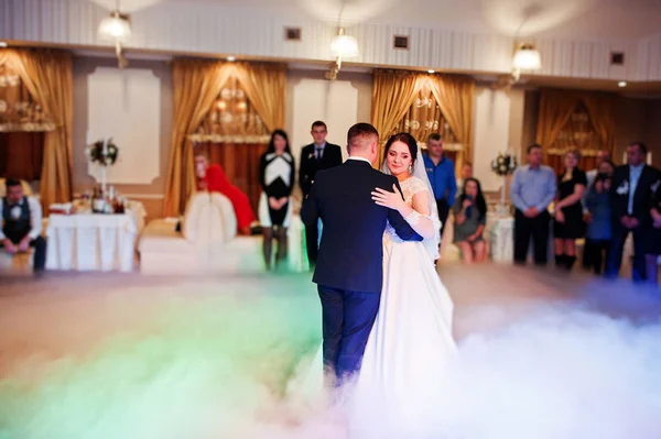
<path fill-rule="evenodd" d="M 435 261 L 440 257 L 438 248 L 441 245 L 441 220 L 438 219 L 438 207 L 436 205 L 436 198 L 434 197 L 434 190 L 432 190 L 432 185 L 430 183 L 430 179 L 426 175 L 426 171 L 424 168 L 424 160 L 419 160 L 418 141 L 415 140 L 414 136 L 412 136 L 409 133 L 394 134 L 394 135 L 390 136 L 390 139 L 388 139 L 388 142 L 386 143 L 386 150 L 383 152 L 383 163 L 381 164 L 381 172 L 383 174 L 392 174 L 390 172 L 390 168 L 388 168 L 388 151 L 390 151 L 390 146 L 392 146 L 392 144 L 394 142 L 402 142 L 402 143 L 405 143 L 407 146 L 409 146 L 409 152 L 411 153 L 411 167 L 412 167 L 412 171 L 410 172 L 410 174 L 413 177 L 416 177 L 418 179 L 423 182 L 426 185 L 426 188 L 430 193 L 429 218 L 434 223 L 436 233 L 434 234 L 433 238 L 424 239 L 422 241 L 422 243 L 424 244 L 424 246 L 425 246 L 426 251 L 429 252 L 430 256 L 432 257 L 432 260 Z"/>

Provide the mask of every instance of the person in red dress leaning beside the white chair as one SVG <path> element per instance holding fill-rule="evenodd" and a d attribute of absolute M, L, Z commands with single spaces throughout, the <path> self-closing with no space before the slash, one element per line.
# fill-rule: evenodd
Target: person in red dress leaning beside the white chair
<path fill-rule="evenodd" d="M 250 224 L 256 221 L 250 200 L 241 189 L 229 183 L 220 165 L 209 165 L 206 155 L 197 154 L 195 155 L 195 174 L 197 176 L 197 190 L 220 193 L 226 196 L 235 208 L 238 232 L 250 234 Z"/>

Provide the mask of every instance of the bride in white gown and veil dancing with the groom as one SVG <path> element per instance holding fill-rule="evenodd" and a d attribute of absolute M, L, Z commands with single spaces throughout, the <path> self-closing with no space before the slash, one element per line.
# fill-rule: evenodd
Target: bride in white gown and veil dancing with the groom
<path fill-rule="evenodd" d="M 452 337 L 454 306 L 434 267 L 441 222 L 424 161 L 410 134 L 390 138 L 382 171 L 397 176 L 403 194 L 378 189 L 375 202 L 399 210 L 424 240 L 402 241 L 390 226 L 386 229 L 379 314 L 360 372 L 343 398 L 350 437 L 438 438 L 447 431 L 442 419 L 448 414 L 443 410 L 452 398 L 458 358 Z M 305 380 L 308 389 L 322 381 L 321 351 L 313 367 Z"/>

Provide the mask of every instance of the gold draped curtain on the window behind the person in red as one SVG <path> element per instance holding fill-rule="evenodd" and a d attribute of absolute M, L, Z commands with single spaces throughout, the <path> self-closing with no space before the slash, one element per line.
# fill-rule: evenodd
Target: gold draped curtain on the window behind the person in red
<path fill-rule="evenodd" d="M 269 130 L 282 127 L 286 69 L 283 66 L 175 59 L 174 127 L 165 188 L 165 216 L 176 216 L 195 191 L 193 140 L 229 78 L 237 78 Z"/>

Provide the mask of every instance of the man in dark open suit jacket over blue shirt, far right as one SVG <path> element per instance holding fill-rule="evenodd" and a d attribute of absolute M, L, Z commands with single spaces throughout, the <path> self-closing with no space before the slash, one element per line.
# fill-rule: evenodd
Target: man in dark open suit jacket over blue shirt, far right
<path fill-rule="evenodd" d="M 629 232 L 633 233 L 633 282 L 646 279 L 644 244 L 646 233 L 652 227 L 649 200 L 660 184 L 659 171 L 644 164 L 647 146 L 633 142 L 627 147 L 627 162 L 613 174 L 610 199 L 613 205 L 613 246 L 608 254 L 606 276 L 619 274 L 622 250 Z"/>

